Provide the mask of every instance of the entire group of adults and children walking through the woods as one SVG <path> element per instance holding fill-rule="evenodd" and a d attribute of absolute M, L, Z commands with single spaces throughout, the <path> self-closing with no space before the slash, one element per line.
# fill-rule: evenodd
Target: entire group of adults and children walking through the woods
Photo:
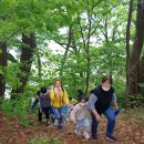
<path fill-rule="evenodd" d="M 55 80 L 53 88 L 41 88 L 38 92 L 38 99 L 31 106 L 31 110 L 40 102 L 39 121 L 42 120 L 42 113 L 45 114 L 47 125 L 50 125 L 50 119 L 59 130 L 62 128 L 64 120 L 64 107 L 69 120 L 75 124 L 74 133 L 89 140 L 97 138 L 97 126 L 102 114 L 107 119 L 107 128 L 105 137 L 110 141 L 116 141 L 113 136 L 115 126 L 115 116 L 120 113 L 112 78 L 106 75 L 102 79 L 99 86 L 91 91 L 89 99 L 79 90 L 78 101 L 72 102 L 66 91 L 63 89 L 60 80 Z M 91 115 L 91 116 L 90 116 Z M 92 120 L 90 124 L 90 119 Z"/>

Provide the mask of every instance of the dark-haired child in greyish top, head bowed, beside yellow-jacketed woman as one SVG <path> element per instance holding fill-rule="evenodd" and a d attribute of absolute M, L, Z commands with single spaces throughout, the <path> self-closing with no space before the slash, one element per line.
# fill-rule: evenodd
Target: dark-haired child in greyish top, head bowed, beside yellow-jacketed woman
<path fill-rule="evenodd" d="M 50 125 L 50 112 L 51 112 L 51 99 L 50 90 L 45 86 L 41 88 L 41 93 L 39 94 L 40 101 L 40 112 L 45 114 L 47 125 Z"/>

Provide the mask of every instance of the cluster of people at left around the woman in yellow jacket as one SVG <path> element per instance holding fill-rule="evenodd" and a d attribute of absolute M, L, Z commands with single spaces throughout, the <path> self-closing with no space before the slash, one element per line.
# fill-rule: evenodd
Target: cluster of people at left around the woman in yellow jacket
<path fill-rule="evenodd" d="M 66 120 L 68 113 L 71 112 L 76 101 L 72 97 L 68 97 L 61 81 L 56 79 L 52 89 L 42 86 L 41 90 L 37 92 L 37 100 L 31 106 L 31 111 L 40 103 L 38 113 L 39 122 L 42 121 L 42 114 L 44 114 L 47 125 L 50 125 L 52 121 L 58 128 L 62 128 L 63 120 Z"/>

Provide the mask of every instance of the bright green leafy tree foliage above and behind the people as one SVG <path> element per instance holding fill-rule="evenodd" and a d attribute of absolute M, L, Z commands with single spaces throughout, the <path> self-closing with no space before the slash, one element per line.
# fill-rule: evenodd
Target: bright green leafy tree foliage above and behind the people
<path fill-rule="evenodd" d="M 0 66 L 0 73 L 6 74 L 7 90 L 11 91 L 21 85 L 18 73 L 25 74 L 19 70 L 21 33 L 34 32 L 37 35 L 37 48 L 24 88 L 24 97 L 20 96 L 20 102 L 24 102 L 24 106 L 18 102 L 17 109 L 13 110 L 11 106 L 14 102 L 8 100 L 3 102 L 3 109 L 8 112 L 7 109 L 10 107 L 12 113 L 22 117 L 27 115 L 25 109 L 37 91 L 43 85 L 52 86 L 55 78 L 61 78 L 69 95 L 76 97 L 76 89 L 85 91 L 86 81 L 89 91 L 94 89 L 101 83 L 104 74 L 112 74 L 116 95 L 123 105 L 127 8 L 126 0 L 0 1 L 0 41 L 7 42 L 10 52 L 11 50 L 16 52 L 8 54 L 9 62 L 4 72 Z M 133 12 L 131 40 L 135 34 L 135 18 L 136 12 Z M 70 27 L 71 42 L 65 56 Z M 50 49 L 50 42 L 59 43 L 62 52 L 54 52 L 55 44 Z M 23 114 L 20 114 L 20 111 Z M 21 121 L 24 121 L 24 116 Z"/>

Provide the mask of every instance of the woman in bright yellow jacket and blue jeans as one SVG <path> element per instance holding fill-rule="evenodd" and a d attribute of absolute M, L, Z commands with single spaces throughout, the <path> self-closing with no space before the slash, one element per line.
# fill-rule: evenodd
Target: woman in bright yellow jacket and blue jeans
<path fill-rule="evenodd" d="M 52 119 L 58 121 L 58 128 L 62 128 L 62 109 L 64 104 L 69 105 L 69 99 L 66 91 L 63 89 L 61 81 L 58 79 L 54 81 L 53 88 L 50 90 L 50 97 L 54 113 Z"/>

